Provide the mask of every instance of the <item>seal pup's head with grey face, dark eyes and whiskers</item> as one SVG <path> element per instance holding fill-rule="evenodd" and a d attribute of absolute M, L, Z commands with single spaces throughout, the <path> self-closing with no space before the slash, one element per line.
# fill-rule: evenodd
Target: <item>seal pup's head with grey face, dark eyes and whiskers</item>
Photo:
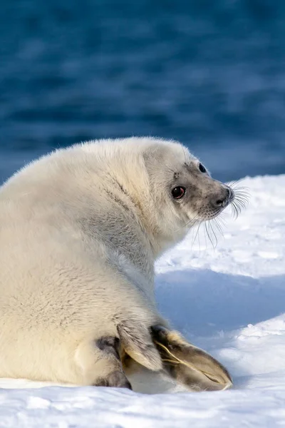
<path fill-rule="evenodd" d="M 169 233 L 184 229 L 185 234 L 193 225 L 216 218 L 229 204 L 239 207 L 235 191 L 214 180 L 180 143 L 152 141 L 144 158 L 157 223 Z"/>

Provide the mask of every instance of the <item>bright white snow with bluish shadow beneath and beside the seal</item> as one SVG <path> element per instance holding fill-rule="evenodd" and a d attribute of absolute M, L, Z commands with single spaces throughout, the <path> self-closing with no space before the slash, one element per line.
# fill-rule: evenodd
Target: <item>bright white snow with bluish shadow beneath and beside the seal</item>
<path fill-rule="evenodd" d="M 0 379 L 0 427 L 285 426 L 285 175 L 242 185 L 248 208 L 237 220 L 224 213 L 217 246 L 204 230 L 190 233 L 157 262 L 156 282 L 160 311 L 229 369 L 234 387 L 190 393 L 168 385 L 162 394 L 149 372 L 159 394 L 143 394 L 138 382 L 131 392 Z"/>

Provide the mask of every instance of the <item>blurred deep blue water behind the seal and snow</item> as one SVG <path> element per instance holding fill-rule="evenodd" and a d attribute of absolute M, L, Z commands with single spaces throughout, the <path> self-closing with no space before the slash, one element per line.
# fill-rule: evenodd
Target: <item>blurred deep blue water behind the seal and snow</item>
<path fill-rule="evenodd" d="M 79 141 L 160 136 L 220 180 L 285 173 L 284 0 L 1 0 L 0 183 Z"/>

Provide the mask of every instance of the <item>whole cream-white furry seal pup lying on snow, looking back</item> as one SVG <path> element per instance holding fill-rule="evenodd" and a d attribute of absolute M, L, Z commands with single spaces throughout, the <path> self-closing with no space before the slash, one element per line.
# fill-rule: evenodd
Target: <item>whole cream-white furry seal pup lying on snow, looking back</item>
<path fill-rule="evenodd" d="M 192 390 L 227 370 L 157 312 L 154 263 L 234 191 L 180 143 L 90 141 L 0 188 L 0 377 L 128 387 L 130 361 Z"/>

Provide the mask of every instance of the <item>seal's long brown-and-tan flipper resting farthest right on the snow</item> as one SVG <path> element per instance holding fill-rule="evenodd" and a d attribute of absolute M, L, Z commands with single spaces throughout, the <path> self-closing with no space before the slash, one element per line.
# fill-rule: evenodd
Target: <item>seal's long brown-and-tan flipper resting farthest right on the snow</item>
<path fill-rule="evenodd" d="M 232 378 L 217 360 L 188 343 L 178 332 L 155 325 L 152 340 L 164 370 L 191 391 L 217 391 L 232 386 Z"/>

